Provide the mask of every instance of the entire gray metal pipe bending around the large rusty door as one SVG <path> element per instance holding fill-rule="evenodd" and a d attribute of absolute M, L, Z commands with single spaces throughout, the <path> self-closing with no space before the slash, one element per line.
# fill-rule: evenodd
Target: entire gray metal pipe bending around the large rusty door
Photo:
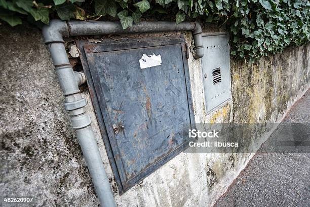
<path fill-rule="evenodd" d="M 65 109 L 69 111 L 72 127 L 76 130 L 83 155 L 89 168 L 98 198 L 102 206 L 116 206 L 107 179 L 99 149 L 95 140 L 91 119 L 86 114 L 86 100 L 81 96 L 79 85 L 85 82 L 84 74 L 73 72 L 64 46 L 63 37 L 112 33 L 163 32 L 192 30 L 195 40 L 195 58 L 203 57 L 202 30 L 199 23 L 140 22 L 123 30 L 117 22 L 85 22 L 51 20 L 44 26 L 45 44 L 50 50 L 60 87 L 65 95 Z"/>

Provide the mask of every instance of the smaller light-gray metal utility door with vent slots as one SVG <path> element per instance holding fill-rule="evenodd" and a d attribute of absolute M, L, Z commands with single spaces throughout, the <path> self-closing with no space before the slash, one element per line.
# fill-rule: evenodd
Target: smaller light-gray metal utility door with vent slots
<path fill-rule="evenodd" d="M 231 98 L 228 34 L 208 34 L 202 37 L 203 82 L 207 113 Z"/>

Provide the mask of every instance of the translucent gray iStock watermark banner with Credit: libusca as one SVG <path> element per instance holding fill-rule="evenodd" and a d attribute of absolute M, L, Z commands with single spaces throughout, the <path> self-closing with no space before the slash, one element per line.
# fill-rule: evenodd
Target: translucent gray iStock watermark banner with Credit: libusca
<path fill-rule="evenodd" d="M 184 126 L 186 153 L 310 152 L 309 123 Z"/>

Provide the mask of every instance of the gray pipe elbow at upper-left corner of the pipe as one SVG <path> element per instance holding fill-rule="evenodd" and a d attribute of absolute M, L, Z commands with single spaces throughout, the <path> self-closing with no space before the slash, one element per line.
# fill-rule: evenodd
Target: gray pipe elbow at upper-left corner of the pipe
<path fill-rule="evenodd" d="M 43 27 L 44 43 L 64 43 L 63 37 L 69 37 L 69 29 L 65 21 L 53 19 Z"/>

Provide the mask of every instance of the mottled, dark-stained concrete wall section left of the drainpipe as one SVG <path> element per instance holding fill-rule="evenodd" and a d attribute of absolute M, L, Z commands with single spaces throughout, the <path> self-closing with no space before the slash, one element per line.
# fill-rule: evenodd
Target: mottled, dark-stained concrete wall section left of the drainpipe
<path fill-rule="evenodd" d="M 97 205 L 41 31 L 0 27 L 0 205 Z"/>

